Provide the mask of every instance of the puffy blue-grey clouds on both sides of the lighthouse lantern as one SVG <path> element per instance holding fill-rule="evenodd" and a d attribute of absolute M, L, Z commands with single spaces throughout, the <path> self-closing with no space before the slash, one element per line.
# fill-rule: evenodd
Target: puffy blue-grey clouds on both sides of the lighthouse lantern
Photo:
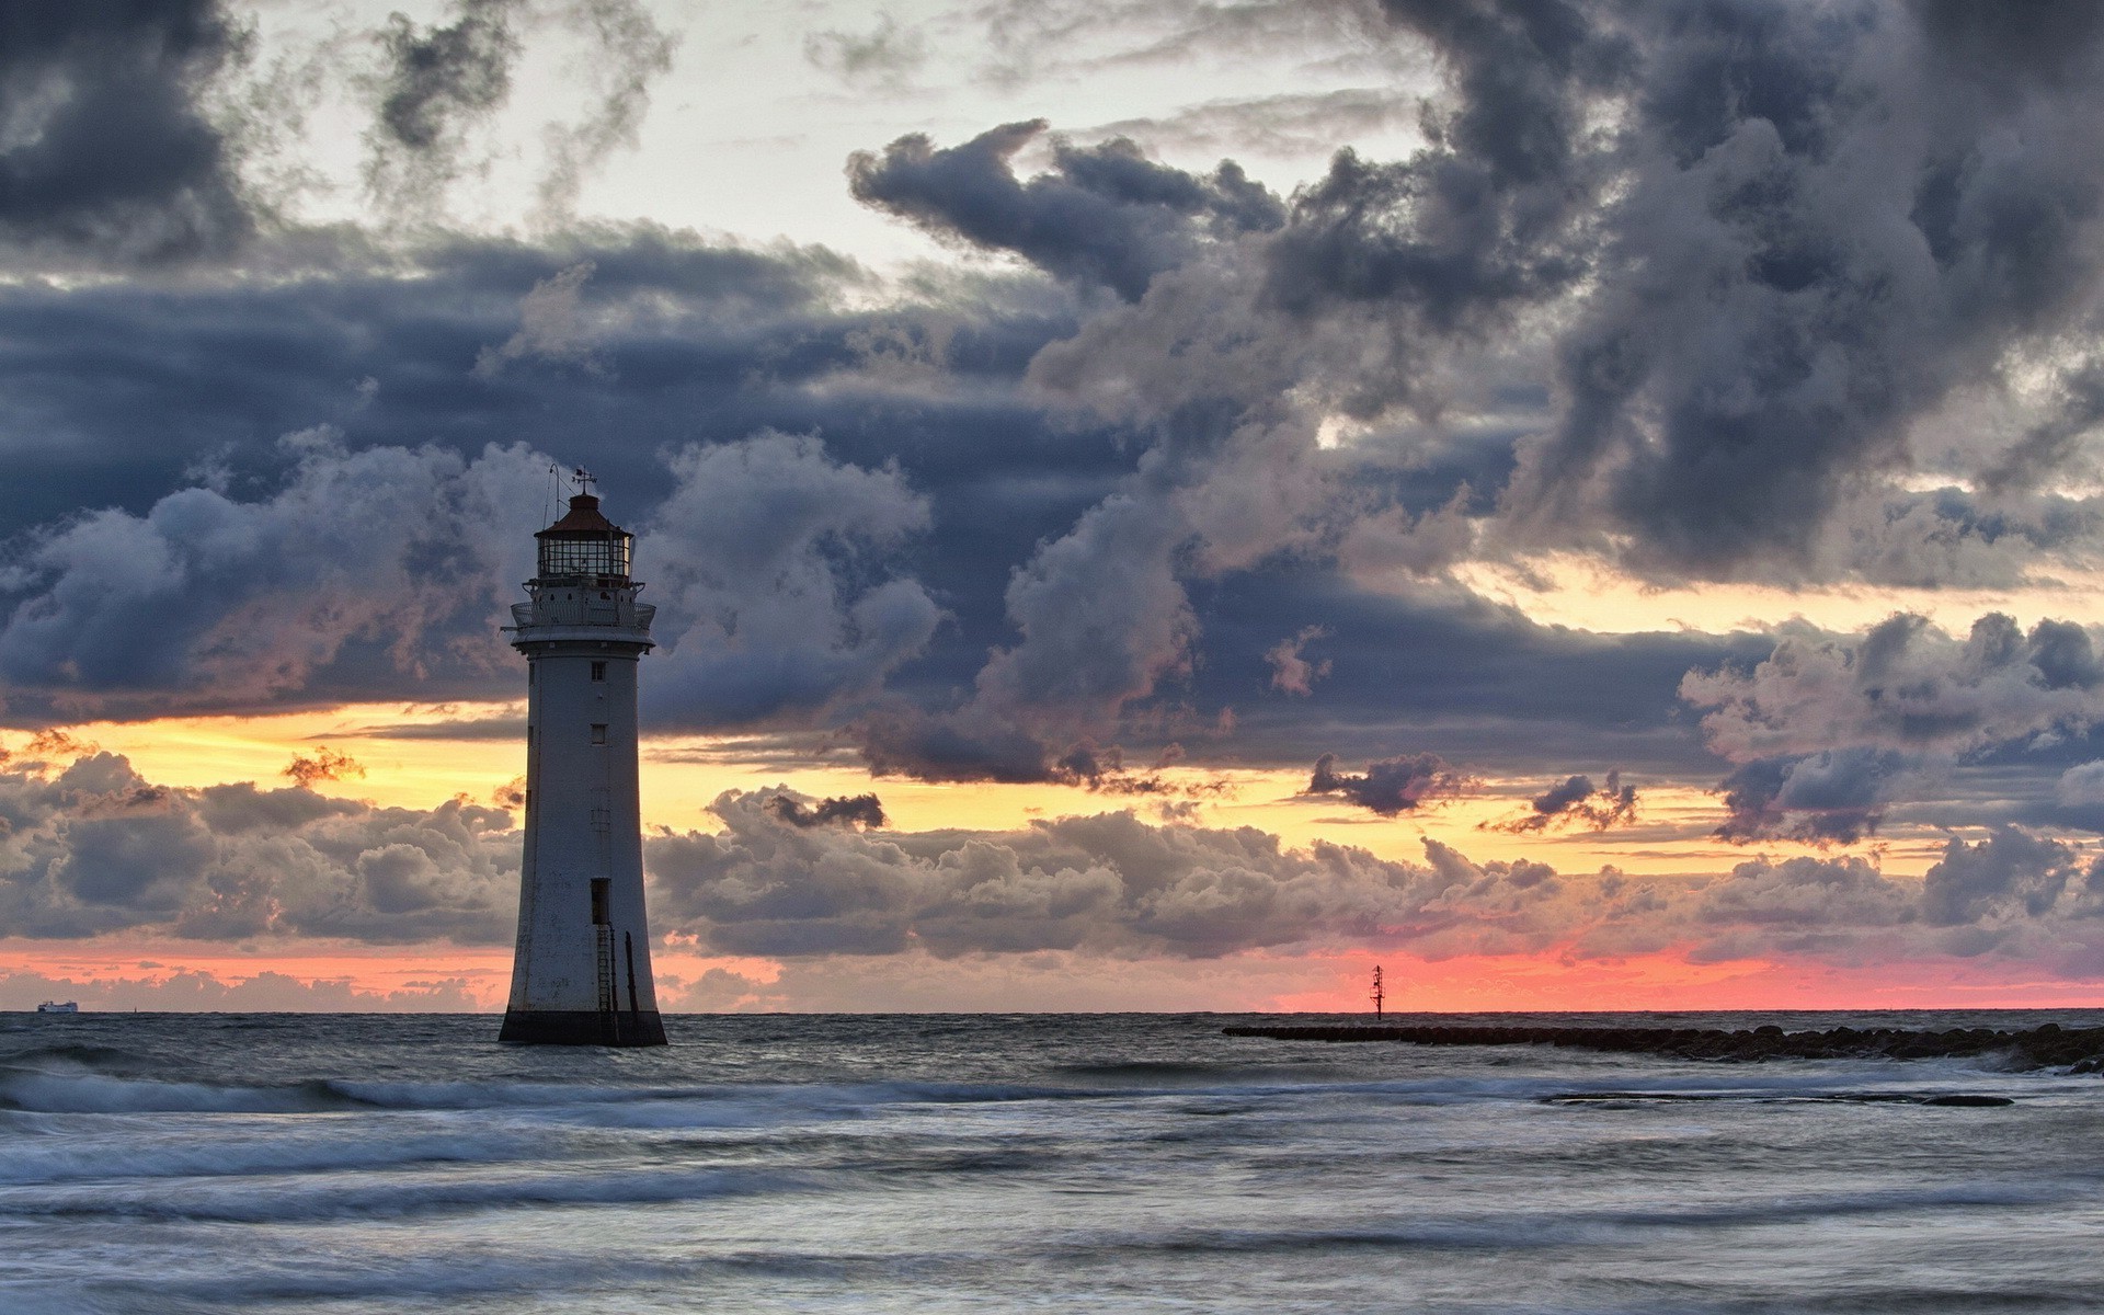
<path fill-rule="evenodd" d="M 13 715 L 515 690 L 501 625 L 532 574 L 549 459 L 347 452 L 335 431 L 284 448 L 292 467 L 267 497 L 187 488 L 143 515 L 95 511 L 19 541 L 0 572 Z M 943 608 L 888 564 L 928 528 L 928 501 L 896 467 L 781 433 L 669 465 L 638 549 L 661 600 L 656 724 L 810 724 L 926 650 Z M 137 627 L 156 642 L 130 642 Z"/>

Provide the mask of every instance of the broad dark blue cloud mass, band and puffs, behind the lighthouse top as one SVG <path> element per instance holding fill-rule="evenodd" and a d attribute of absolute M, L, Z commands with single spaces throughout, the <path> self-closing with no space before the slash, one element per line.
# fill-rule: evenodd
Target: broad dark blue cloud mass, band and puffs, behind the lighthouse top
<path fill-rule="evenodd" d="M 494 627 L 530 572 L 545 467 L 579 457 L 644 534 L 654 724 L 810 724 L 903 663 L 940 699 L 970 673 L 955 652 L 999 638 L 1008 564 L 1130 457 L 1002 396 L 1060 324 L 1041 299 L 953 313 L 940 387 L 901 387 L 856 343 L 911 307 L 833 311 L 856 280 L 827 252 L 646 229 L 568 252 L 438 248 L 412 280 L 0 297 L 0 412 L 65 421 L 17 457 L 8 713 L 509 696 Z M 551 457 L 486 446 L 503 431 Z M 606 442 L 587 454 L 581 433 Z M 949 505 L 940 553 L 930 497 Z M 59 515 L 80 503 L 103 509 Z M 120 644 L 105 627 L 124 614 L 166 629 Z M 962 648 L 926 663 L 938 625 Z"/>

